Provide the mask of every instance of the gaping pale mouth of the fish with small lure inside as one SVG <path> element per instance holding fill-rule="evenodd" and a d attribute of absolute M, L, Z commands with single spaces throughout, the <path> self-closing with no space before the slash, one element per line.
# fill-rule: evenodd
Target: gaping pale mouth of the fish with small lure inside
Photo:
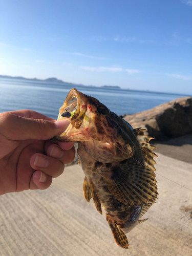
<path fill-rule="evenodd" d="M 71 121 L 66 131 L 52 138 L 57 141 L 83 141 L 88 139 L 84 131 L 84 116 L 87 112 L 87 99 L 75 88 L 71 89 L 59 109 L 57 120 L 68 119 Z M 81 136 L 80 136 L 81 135 Z"/>

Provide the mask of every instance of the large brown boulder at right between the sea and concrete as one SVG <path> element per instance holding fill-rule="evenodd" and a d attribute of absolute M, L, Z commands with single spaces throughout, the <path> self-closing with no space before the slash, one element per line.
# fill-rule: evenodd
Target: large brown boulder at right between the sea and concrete
<path fill-rule="evenodd" d="M 192 133 L 192 99 L 178 98 L 151 110 L 121 117 L 134 128 L 145 128 L 145 134 L 156 140 L 176 138 Z"/>

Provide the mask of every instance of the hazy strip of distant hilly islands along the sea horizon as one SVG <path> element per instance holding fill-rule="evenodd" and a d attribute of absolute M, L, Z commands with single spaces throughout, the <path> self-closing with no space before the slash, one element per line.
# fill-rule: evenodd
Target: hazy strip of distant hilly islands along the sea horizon
<path fill-rule="evenodd" d="M 74 86 L 84 86 L 84 84 L 75 84 L 72 82 L 64 82 L 62 80 L 59 80 L 55 77 L 51 77 L 51 78 L 47 78 L 47 79 L 37 79 L 37 78 L 25 78 L 23 76 L 4 76 L 4 75 L 0 75 L 0 78 L 8 78 L 8 79 L 18 79 L 18 80 L 27 80 L 27 81 L 35 81 L 35 82 L 50 82 L 50 83 L 59 83 L 59 84 L 63 84 L 63 85 L 72 85 L 74 84 Z M 95 86 L 92 86 L 95 87 Z M 121 89 L 119 86 L 101 86 L 104 88 L 113 88 L 113 89 Z"/>

